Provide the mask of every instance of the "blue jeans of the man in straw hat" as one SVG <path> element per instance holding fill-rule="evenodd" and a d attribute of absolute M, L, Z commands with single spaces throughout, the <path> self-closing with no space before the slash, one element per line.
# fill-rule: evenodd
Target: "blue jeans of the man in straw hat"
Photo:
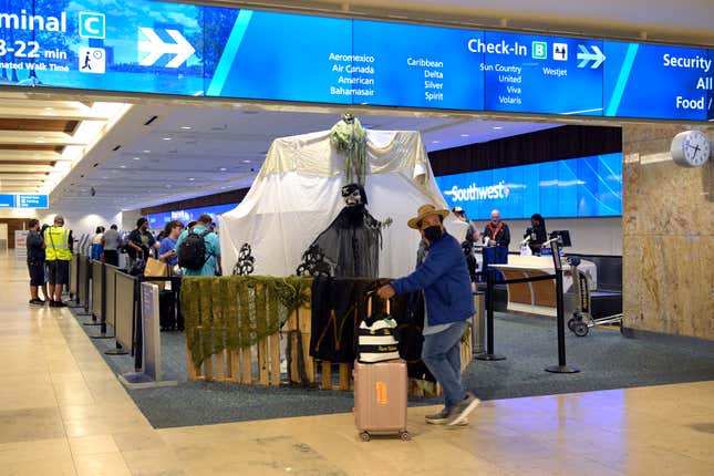
<path fill-rule="evenodd" d="M 444 406 L 447 412 L 459 404 L 466 392 L 462 386 L 462 335 L 467 321 L 454 322 L 445 331 L 424 335 L 422 360 L 444 389 Z"/>

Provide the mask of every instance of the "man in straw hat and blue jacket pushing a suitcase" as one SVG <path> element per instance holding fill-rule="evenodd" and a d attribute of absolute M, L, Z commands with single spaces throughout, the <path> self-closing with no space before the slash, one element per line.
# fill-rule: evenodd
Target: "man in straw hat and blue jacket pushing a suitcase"
<path fill-rule="evenodd" d="M 425 300 L 422 360 L 444 389 L 444 410 L 427 415 L 432 424 L 463 425 L 480 401 L 462 385 L 461 339 L 474 315 L 472 284 L 459 242 L 444 229 L 448 210 L 420 207 L 410 228 L 420 230 L 426 256 L 410 276 L 385 284 L 382 299 L 423 291 Z"/>

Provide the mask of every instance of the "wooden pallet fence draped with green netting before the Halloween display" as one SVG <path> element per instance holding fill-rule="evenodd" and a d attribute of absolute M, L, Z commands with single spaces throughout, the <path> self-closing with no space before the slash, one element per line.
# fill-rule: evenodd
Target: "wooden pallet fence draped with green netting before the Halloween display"
<path fill-rule="evenodd" d="M 185 278 L 187 377 L 250 385 L 352 389 L 352 365 L 310 355 L 312 278 Z M 470 331 L 462 368 L 472 360 Z M 410 393 L 435 395 L 433 382 L 410 379 Z"/>

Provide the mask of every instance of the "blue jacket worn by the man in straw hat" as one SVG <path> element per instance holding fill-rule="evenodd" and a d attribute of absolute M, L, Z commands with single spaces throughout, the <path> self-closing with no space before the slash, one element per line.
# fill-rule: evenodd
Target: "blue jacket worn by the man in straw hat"
<path fill-rule="evenodd" d="M 424 290 L 430 325 L 465 321 L 475 313 L 464 251 L 447 232 L 430 247 L 422 266 L 392 287 L 397 294 Z"/>

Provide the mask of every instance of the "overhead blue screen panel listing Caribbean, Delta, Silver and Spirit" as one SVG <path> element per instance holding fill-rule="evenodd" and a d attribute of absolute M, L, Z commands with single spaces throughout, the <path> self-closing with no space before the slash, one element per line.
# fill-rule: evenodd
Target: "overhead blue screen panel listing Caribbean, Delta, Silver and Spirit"
<path fill-rule="evenodd" d="M 354 58 L 366 61 L 353 63 L 353 87 L 361 92 L 353 96 L 355 104 L 484 108 L 483 56 L 464 48 L 472 39 L 483 40 L 482 32 L 376 21 L 353 24 Z"/>

